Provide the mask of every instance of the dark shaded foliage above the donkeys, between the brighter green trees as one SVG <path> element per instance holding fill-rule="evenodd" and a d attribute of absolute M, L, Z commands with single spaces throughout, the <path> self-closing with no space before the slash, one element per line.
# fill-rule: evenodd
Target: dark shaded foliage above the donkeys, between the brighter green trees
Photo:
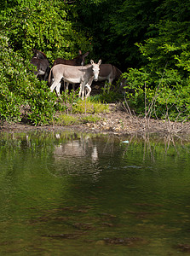
<path fill-rule="evenodd" d="M 158 0 L 107 0 L 96 5 L 80 0 L 74 7 L 78 24 L 85 27 L 93 39 L 95 56 L 124 70 L 141 64 L 135 43 L 156 33 L 155 29 L 149 30 L 149 26 L 163 15 L 162 9 L 158 11 L 160 4 Z"/>

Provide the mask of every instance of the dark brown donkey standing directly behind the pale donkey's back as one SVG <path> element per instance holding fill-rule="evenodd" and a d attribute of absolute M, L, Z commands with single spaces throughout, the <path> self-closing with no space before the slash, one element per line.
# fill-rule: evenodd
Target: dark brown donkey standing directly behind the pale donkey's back
<path fill-rule="evenodd" d="M 83 66 L 85 57 L 88 55 L 89 55 L 89 51 L 87 51 L 85 54 L 82 55 L 81 50 L 79 50 L 78 56 L 72 60 L 64 60 L 61 58 L 56 59 L 53 63 L 53 67 L 57 64 L 64 64 L 64 65 L 70 65 L 70 66 Z"/>

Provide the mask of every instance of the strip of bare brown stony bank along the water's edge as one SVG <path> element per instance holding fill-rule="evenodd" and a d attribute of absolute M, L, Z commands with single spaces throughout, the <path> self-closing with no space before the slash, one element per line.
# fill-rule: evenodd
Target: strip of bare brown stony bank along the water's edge
<path fill-rule="evenodd" d="M 145 119 L 129 114 L 119 104 L 109 104 L 109 113 L 99 113 L 100 120 L 96 123 L 86 123 L 82 125 L 45 125 L 33 126 L 26 123 L 5 122 L 0 126 L 0 131 L 36 131 L 36 130 L 77 130 L 90 132 L 107 132 L 124 135 L 143 132 L 151 133 L 173 133 L 180 135 L 190 135 L 190 122 L 179 123 L 169 120 Z"/>

